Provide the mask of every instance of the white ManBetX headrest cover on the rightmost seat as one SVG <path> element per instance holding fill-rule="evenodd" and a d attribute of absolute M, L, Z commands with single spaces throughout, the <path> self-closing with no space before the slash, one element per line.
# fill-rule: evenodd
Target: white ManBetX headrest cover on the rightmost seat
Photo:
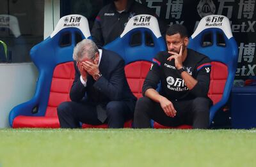
<path fill-rule="evenodd" d="M 227 36 L 228 40 L 233 36 L 230 28 L 230 22 L 227 17 L 223 15 L 208 15 L 200 20 L 198 26 L 196 27 L 196 31 L 192 34 L 191 38 L 195 38 L 202 31 L 209 28 L 221 29 L 225 36 Z"/>

